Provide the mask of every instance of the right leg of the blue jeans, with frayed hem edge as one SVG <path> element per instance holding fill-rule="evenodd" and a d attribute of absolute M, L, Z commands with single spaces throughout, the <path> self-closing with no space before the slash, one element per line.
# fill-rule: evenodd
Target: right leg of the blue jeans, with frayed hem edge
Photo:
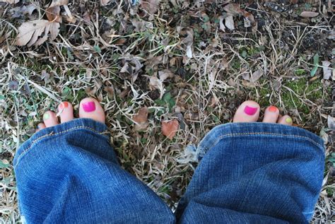
<path fill-rule="evenodd" d="M 199 143 L 202 158 L 178 223 L 308 223 L 322 187 L 324 144 L 294 126 L 232 123 Z"/>

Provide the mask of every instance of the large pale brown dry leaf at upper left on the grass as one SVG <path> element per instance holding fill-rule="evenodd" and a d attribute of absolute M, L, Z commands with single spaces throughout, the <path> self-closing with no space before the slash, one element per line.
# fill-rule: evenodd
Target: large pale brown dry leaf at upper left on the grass
<path fill-rule="evenodd" d="M 44 36 L 40 37 L 44 32 Z M 48 20 L 33 20 L 25 22 L 18 28 L 18 37 L 16 37 L 16 45 L 42 45 L 48 38 L 54 40 L 59 33 L 59 23 L 52 23 Z M 40 39 L 39 39 L 40 37 Z M 37 40 L 38 39 L 38 40 Z"/>

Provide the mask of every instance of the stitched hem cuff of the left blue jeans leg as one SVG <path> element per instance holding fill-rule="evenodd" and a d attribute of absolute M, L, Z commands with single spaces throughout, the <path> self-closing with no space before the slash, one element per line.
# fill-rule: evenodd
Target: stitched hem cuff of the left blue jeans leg
<path fill-rule="evenodd" d="M 93 119 L 73 119 L 70 122 L 65 122 L 37 131 L 37 133 L 29 138 L 28 141 L 25 141 L 25 143 L 23 143 L 20 148 L 18 148 L 18 151 L 16 151 L 16 156 L 13 160 L 14 167 L 16 167 L 18 163 L 20 163 L 21 158 L 23 158 L 33 148 L 36 148 L 35 146 L 42 143 L 43 141 L 49 138 L 64 136 L 65 134 L 69 134 L 69 132 L 76 131 L 85 131 L 88 134 L 93 134 L 93 136 L 105 139 L 107 143 L 110 143 L 109 131 L 105 124 L 96 122 Z"/>

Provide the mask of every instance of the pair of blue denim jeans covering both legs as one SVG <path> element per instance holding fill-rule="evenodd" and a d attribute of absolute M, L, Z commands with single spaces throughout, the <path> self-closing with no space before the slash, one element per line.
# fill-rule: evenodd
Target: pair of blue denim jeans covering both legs
<path fill-rule="evenodd" d="M 232 123 L 199 143 L 177 211 L 122 170 L 107 126 L 74 119 L 37 132 L 14 158 L 27 223 L 308 223 L 324 170 L 322 139 L 294 126 Z"/>

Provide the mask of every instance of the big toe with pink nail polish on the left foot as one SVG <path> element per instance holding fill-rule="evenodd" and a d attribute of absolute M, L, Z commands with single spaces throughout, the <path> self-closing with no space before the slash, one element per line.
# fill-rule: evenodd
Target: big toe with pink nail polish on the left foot
<path fill-rule="evenodd" d="M 105 124 L 105 112 L 98 100 L 93 98 L 85 98 L 81 100 L 81 104 L 79 106 L 79 117 L 94 119 L 97 122 Z"/>

